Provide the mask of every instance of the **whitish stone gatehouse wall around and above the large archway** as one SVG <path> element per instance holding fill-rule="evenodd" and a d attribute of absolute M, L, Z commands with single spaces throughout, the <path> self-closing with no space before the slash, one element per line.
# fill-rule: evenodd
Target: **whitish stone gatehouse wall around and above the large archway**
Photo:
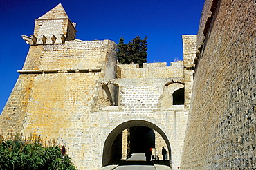
<path fill-rule="evenodd" d="M 171 78 L 113 79 L 111 82 L 119 86 L 119 106 L 102 108 L 94 115 L 105 112 L 104 117 L 100 119 L 102 121 L 104 119 L 104 126 L 113 129 L 122 123 L 136 120 L 145 121 L 144 124 L 137 124 L 137 126 L 147 126 L 148 122 L 155 124 L 167 136 L 166 141 L 163 139 L 163 133 L 158 131 L 159 129 L 149 126 L 158 131 L 156 134 L 161 134 L 160 136 L 156 135 L 157 155 L 162 158 L 161 147 L 165 146 L 170 153 L 168 159 L 171 160 L 172 167 L 177 167 L 181 160 L 188 115 L 185 115 L 183 105 L 175 106 L 170 103 L 168 106 L 163 106 L 162 104 L 167 97 L 172 98 L 172 93 L 177 88 L 183 87 L 181 84 L 174 83 L 173 88 L 169 89 L 170 93 L 165 91 L 165 88 L 170 88 L 165 84 L 171 80 Z M 163 99 L 163 97 L 165 98 Z"/>

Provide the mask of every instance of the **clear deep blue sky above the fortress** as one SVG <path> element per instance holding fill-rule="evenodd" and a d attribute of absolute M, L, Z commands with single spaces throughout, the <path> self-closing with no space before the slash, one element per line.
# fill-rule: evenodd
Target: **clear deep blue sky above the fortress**
<path fill-rule="evenodd" d="M 148 62 L 183 59 L 181 35 L 196 35 L 204 0 L 2 0 L 0 1 L 0 113 L 28 53 L 21 35 L 32 35 L 35 19 L 62 3 L 77 23 L 77 39 L 127 43 L 148 36 Z"/>

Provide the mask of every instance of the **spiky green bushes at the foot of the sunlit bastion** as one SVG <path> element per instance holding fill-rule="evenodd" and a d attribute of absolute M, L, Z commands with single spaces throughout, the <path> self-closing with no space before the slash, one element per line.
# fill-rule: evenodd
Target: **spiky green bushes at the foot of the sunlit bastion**
<path fill-rule="evenodd" d="M 43 147 L 40 138 L 24 141 L 16 135 L 12 139 L 0 136 L 0 169 L 5 170 L 75 170 L 68 155 L 60 146 Z"/>

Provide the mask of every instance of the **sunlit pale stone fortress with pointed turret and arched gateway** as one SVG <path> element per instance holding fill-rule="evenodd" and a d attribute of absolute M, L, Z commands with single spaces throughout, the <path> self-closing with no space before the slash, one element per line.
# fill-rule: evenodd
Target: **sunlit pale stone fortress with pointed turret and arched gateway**
<path fill-rule="evenodd" d="M 35 20 L 17 83 L 0 116 L 3 135 L 63 142 L 77 169 L 100 169 L 155 147 L 181 161 L 196 36 L 183 35 L 184 62 L 117 64 L 113 41 L 75 39 L 61 4 Z M 142 147 L 143 146 L 143 147 Z"/>

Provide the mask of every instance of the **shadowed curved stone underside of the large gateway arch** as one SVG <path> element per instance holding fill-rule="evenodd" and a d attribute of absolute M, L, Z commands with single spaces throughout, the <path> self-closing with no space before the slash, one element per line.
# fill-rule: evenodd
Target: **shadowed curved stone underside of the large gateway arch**
<path fill-rule="evenodd" d="M 111 147 L 113 145 L 113 142 L 116 140 L 117 136 L 125 129 L 134 127 L 134 126 L 145 126 L 150 129 L 154 129 L 157 131 L 165 141 L 167 145 L 167 150 L 168 156 L 169 156 L 169 164 L 170 167 L 172 167 L 172 150 L 170 146 L 170 142 L 167 138 L 167 135 L 158 127 L 156 124 L 153 124 L 152 122 L 148 122 L 145 120 L 129 120 L 127 122 L 123 122 L 122 124 L 119 124 L 115 129 L 109 133 L 107 136 L 107 139 L 104 142 L 104 147 L 103 147 L 103 156 L 102 156 L 102 167 L 107 166 L 109 162 L 111 162 Z"/>

